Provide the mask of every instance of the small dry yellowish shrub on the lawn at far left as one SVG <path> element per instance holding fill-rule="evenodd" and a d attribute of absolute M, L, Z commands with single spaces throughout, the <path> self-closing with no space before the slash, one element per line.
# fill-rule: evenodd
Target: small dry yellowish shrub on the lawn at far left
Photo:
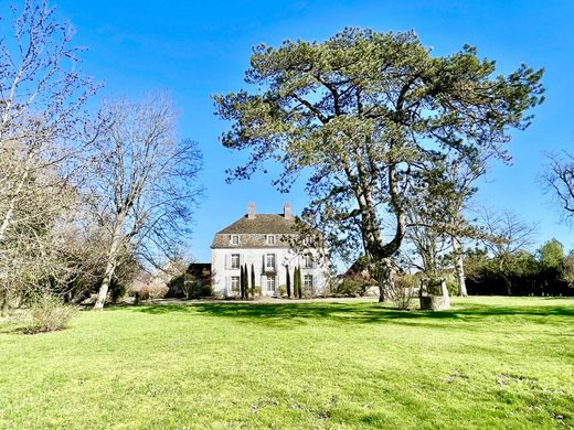
<path fill-rule="evenodd" d="M 65 329 L 77 313 L 76 308 L 64 304 L 57 297 L 47 294 L 32 301 L 29 311 L 32 322 L 25 327 L 25 332 L 30 334 Z"/>

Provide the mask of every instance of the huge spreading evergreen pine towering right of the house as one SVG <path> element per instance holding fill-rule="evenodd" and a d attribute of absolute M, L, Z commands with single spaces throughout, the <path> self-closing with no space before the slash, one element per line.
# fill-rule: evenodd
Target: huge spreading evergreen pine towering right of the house
<path fill-rule="evenodd" d="M 528 127 L 525 110 L 542 101 L 542 71 L 493 73 L 476 49 L 432 56 L 414 32 L 344 29 L 320 43 L 258 45 L 246 73 L 256 90 L 215 97 L 232 121 L 223 144 L 251 151 L 228 180 L 272 160 L 284 168 L 274 184 L 287 191 L 307 172 L 304 219 L 343 256 L 364 249 L 383 300 L 413 174 L 447 151 L 506 155 L 509 129 Z"/>

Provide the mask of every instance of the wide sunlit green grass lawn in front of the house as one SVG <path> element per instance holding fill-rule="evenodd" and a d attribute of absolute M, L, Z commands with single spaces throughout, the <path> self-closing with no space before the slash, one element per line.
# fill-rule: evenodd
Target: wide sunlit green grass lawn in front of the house
<path fill-rule="evenodd" d="M 574 428 L 574 300 L 192 303 L 0 325 L 0 428 Z"/>

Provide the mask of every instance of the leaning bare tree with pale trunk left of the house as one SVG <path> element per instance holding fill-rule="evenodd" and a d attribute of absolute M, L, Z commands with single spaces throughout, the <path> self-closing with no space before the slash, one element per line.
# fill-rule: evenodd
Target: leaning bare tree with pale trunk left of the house
<path fill-rule="evenodd" d="M 176 260 L 189 237 L 201 152 L 177 140 L 176 111 L 164 95 L 142 103 L 108 103 L 109 126 L 96 139 L 85 195 L 106 228 L 106 269 L 94 309 L 102 310 L 118 256 L 127 248 L 145 264 Z"/>

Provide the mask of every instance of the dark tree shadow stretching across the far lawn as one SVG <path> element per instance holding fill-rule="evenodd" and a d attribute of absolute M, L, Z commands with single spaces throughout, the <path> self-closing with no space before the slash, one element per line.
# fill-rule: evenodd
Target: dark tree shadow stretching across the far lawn
<path fill-rule="evenodd" d="M 124 308 L 125 309 L 125 308 Z M 574 307 L 524 307 L 515 308 L 485 305 L 475 303 L 457 303 L 447 311 L 398 311 L 379 303 L 173 303 L 140 305 L 134 311 L 149 314 L 201 314 L 213 318 L 235 319 L 265 325 L 287 324 L 297 319 L 298 323 L 332 322 L 347 324 L 400 323 L 405 325 L 426 325 L 451 329 L 453 321 L 480 322 L 489 320 L 504 321 L 512 316 L 529 323 L 571 324 L 574 322 Z M 468 325 L 461 324 L 468 329 Z"/>

